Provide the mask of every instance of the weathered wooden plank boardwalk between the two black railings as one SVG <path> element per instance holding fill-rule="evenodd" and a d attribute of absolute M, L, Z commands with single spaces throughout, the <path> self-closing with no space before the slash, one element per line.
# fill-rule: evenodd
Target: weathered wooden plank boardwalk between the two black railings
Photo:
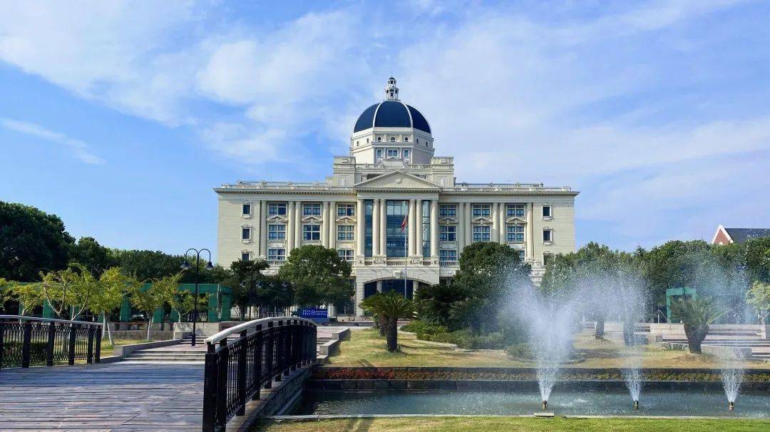
<path fill-rule="evenodd" d="M 201 430 L 203 366 L 0 370 L 0 430 Z"/>

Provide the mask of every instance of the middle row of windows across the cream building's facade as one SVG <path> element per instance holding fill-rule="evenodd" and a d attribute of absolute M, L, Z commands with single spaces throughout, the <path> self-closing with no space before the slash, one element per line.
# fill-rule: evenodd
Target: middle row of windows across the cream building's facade
<path fill-rule="evenodd" d="M 473 226 L 473 241 L 474 242 L 488 242 L 490 241 L 491 227 L 484 225 Z M 505 233 L 506 241 L 509 243 L 523 243 L 524 242 L 524 226 L 523 225 L 508 225 Z M 321 226 L 316 224 L 308 224 L 302 226 L 302 238 L 306 241 L 320 240 L 321 239 Z M 251 228 L 244 227 L 241 230 L 241 239 L 251 239 Z M 282 223 L 271 223 L 267 226 L 267 239 L 269 240 L 285 240 L 286 239 L 286 225 Z M 353 225 L 338 225 L 337 226 L 337 241 L 340 242 L 352 242 L 356 239 L 355 227 Z M 438 239 L 442 242 L 454 242 L 457 240 L 457 226 L 444 225 L 439 226 Z M 553 230 L 543 230 L 543 241 L 553 241 Z"/>

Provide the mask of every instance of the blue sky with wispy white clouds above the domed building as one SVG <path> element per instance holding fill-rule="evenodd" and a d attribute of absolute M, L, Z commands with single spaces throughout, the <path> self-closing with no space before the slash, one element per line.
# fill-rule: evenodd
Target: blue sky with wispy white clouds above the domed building
<path fill-rule="evenodd" d="M 316 180 L 388 76 L 458 181 L 581 191 L 578 246 L 770 226 L 770 5 L 3 2 L 0 199 L 216 247 L 236 179 Z"/>

